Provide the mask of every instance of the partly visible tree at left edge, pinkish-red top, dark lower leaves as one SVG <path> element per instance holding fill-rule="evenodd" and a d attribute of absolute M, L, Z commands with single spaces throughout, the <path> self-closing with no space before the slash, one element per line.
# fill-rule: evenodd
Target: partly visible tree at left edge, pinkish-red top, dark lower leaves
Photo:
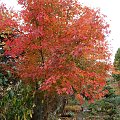
<path fill-rule="evenodd" d="M 13 15 L 12 15 L 13 14 Z M 14 13 L 8 11 L 4 4 L 0 5 L 0 89 L 1 98 L 4 96 L 6 89 L 10 84 L 15 85 L 16 80 L 11 78 L 11 74 L 15 75 L 12 70 L 12 59 L 4 55 L 5 42 L 7 39 L 12 39 L 14 36 L 13 28 L 16 27 L 16 21 L 12 20 Z M 11 73 L 10 73 L 11 71 Z M 13 75 L 13 76 L 14 76 Z M 15 77 L 15 76 L 14 76 Z M 8 80 L 9 78 L 9 80 Z"/>

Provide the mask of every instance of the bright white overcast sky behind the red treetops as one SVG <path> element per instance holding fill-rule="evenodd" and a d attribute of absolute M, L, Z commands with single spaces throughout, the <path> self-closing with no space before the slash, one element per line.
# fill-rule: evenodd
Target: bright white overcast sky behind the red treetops
<path fill-rule="evenodd" d="M 110 23 L 111 34 L 108 40 L 112 40 L 113 57 L 117 49 L 120 47 L 120 0 L 79 0 L 86 6 L 92 8 L 100 8 L 101 12 L 108 17 Z M 17 5 L 17 0 L 0 0 L 0 3 L 5 3 L 8 7 L 14 7 L 15 10 L 20 10 Z M 111 21 L 110 21 L 111 20 Z"/>

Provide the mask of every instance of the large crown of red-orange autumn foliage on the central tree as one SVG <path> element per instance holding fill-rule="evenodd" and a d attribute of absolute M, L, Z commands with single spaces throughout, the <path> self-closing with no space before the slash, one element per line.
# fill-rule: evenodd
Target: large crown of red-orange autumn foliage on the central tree
<path fill-rule="evenodd" d="M 16 59 L 21 79 L 42 91 L 44 100 L 56 94 L 75 94 L 81 103 L 83 97 L 101 98 L 110 52 L 105 37 L 109 25 L 100 10 L 83 7 L 77 0 L 18 3 L 23 6 L 23 22 L 19 36 L 7 40 L 5 54 Z"/>

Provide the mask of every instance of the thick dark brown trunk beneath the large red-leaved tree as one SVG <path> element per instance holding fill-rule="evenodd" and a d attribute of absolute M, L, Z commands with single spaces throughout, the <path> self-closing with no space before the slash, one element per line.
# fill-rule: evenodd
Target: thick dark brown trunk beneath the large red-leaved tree
<path fill-rule="evenodd" d="M 62 114 L 66 97 L 59 95 L 44 95 L 44 92 L 37 91 L 35 94 L 35 108 L 31 120 L 48 120 L 49 115 L 55 116 L 56 113 Z M 59 109 L 58 109 L 59 108 Z"/>

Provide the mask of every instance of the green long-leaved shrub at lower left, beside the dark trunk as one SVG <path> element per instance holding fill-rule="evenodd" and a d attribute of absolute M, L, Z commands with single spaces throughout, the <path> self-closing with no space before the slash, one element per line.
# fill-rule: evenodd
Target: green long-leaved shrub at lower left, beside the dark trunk
<path fill-rule="evenodd" d="M 11 88 L 0 101 L 2 120 L 29 120 L 34 107 L 32 89 L 21 82 Z"/>

